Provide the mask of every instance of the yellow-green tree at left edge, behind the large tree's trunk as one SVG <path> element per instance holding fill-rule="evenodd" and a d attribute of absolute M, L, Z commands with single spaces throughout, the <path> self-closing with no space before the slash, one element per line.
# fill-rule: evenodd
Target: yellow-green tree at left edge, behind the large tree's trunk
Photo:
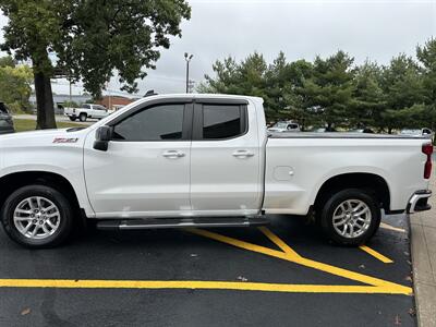
<path fill-rule="evenodd" d="M 28 65 L 15 65 L 9 56 L 0 58 L 0 100 L 14 112 L 29 108 L 32 74 Z"/>

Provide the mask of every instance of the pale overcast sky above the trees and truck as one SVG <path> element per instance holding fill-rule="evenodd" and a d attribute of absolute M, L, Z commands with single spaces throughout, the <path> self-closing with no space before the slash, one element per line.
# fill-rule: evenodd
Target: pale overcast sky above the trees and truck
<path fill-rule="evenodd" d="M 181 24 L 182 37 L 172 37 L 162 49 L 156 70 L 140 82 L 140 95 L 184 93 L 184 52 L 193 55 L 190 78 L 197 85 L 211 65 L 231 56 L 238 61 L 258 51 L 271 62 L 281 50 L 288 60 L 313 60 L 341 49 L 355 58 L 380 64 L 404 52 L 414 56 L 417 45 L 436 37 L 436 0 L 190 0 L 190 21 Z M 0 16 L 0 26 L 7 19 Z M 1 40 L 0 35 L 0 40 Z M 109 89 L 119 93 L 112 78 Z M 66 81 L 53 92 L 68 93 Z M 77 85 L 73 93 L 83 89 Z"/>

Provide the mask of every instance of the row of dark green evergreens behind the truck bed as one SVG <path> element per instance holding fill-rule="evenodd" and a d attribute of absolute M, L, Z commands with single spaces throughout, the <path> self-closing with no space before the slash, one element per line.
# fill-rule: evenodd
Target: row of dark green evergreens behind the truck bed
<path fill-rule="evenodd" d="M 386 65 L 354 58 L 342 50 L 287 61 L 283 52 L 268 64 L 254 52 L 238 62 L 232 57 L 213 64 L 199 93 L 263 97 L 268 121 L 298 121 L 303 129 L 373 128 L 436 129 L 436 39 L 416 47 L 416 58 L 403 53 Z"/>

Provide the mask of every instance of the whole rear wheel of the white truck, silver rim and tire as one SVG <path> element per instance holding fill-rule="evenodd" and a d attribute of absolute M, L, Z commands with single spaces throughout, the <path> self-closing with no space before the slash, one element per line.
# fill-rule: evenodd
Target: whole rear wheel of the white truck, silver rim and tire
<path fill-rule="evenodd" d="M 347 189 L 324 202 L 318 218 L 328 239 L 341 245 L 361 245 L 377 231 L 382 211 L 370 192 Z"/>

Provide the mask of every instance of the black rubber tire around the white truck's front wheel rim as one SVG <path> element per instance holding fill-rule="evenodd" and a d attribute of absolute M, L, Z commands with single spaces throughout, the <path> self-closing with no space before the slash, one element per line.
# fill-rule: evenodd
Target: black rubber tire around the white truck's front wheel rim
<path fill-rule="evenodd" d="M 16 228 L 13 215 L 19 204 L 32 196 L 41 196 L 52 202 L 59 209 L 59 227 L 45 239 L 32 239 L 22 234 Z M 73 229 L 73 210 L 69 201 L 56 189 L 45 185 L 28 185 L 13 192 L 1 208 L 1 222 L 7 234 L 16 243 L 29 247 L 53 247 L 69 238 Z"/>

